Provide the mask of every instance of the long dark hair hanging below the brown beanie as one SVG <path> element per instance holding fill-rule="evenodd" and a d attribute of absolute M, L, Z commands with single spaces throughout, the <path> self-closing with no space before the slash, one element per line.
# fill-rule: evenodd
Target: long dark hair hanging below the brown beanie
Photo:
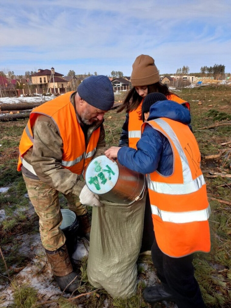
<path fill-rule="evenodd" d="M 156 82 L 148 85 L 148 94 L 152 92 L 163 93 L 167 99 L 168 96 L 172 94 L 171 92 L 169 92 L 168 86 L 161 82 Z M 132 87 L 132 89 L 129 90 L 128 94 L 124 99 L 123 104 L 119 107 L 117 112 L 121 112 L 124 109 L 126 110 L 126 112 L 135 110 L 140 105 L 142 99 L 143 98 L 136 92 L 135 87 Z"/>

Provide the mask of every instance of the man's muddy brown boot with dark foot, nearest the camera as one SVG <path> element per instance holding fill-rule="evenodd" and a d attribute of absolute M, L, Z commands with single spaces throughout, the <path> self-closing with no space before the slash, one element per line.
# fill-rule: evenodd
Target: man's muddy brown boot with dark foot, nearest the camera
<path fill-rule="evenodd" d="M 79 275 L 73 271 L 67 246 L 63 245 L 55 251 L 46 250 L 47 260 L 55 281 L 60 289 L 66 293 L 72 293 L 79 288 Z"/>

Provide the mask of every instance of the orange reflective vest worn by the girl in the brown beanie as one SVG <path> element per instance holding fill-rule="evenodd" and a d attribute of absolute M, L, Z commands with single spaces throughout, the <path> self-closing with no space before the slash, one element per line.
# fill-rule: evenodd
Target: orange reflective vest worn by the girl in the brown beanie
<path fill-rule="evenodd" d="M 175 94 L 171 94 L 166 99 L 173 100 L 176 103 L 182 104 L 190 110 L 190 105 L 185 100 L 181 99 L 179 96 Z M 128 121 L 128 145 L 130 148 L 136 149 L 136 144 L 140 140 L 141 133 L 140 127 L 143 124 L 142 119 L 139 117 L 142 115 L 142 103 L 144 99 L 141 101 L 140 105 L 135 109 L 129 112 L 129 121 Z"/>

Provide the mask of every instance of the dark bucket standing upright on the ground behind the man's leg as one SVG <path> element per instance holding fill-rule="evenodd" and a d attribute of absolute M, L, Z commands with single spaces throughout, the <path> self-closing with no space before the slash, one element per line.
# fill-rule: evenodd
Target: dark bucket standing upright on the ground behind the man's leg
<path fill-rule="evenodd" d="M 71 256 L 77 248 L 77 231 L 79 228 L 79 222 L 73 211 L 69 209 L 61 209 L 61 213 L 63 216 L 63 221 L 60 229 L 66 237 L 67 250 Z"/>

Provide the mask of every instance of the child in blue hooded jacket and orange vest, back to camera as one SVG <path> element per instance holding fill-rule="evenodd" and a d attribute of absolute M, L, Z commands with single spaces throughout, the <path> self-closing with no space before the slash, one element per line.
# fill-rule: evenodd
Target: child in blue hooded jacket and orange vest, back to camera
<path fill-rule="evenodd" d="M 199 153 L 199 149 L 198 149 L 198 145 L 196 143 L 195 137 L 193 136 L 190 130 L 191 129 L 190 128 L 190 121 L 191 121 L 190 112 L 186 107 L 174 101 L 167 100 L 165 95 L 155 92 L 155 93 L 150 93 L 145 97 L 143 105 L 142 105 L 142 115 L 141 116 L 142 116 L 143 121 L 156 120 L 157 123 L 161 123 L 161 121 L 165 119 L 166 120 L 165 122 L 167 122 L 167 125 L 165 127 L 167 128 L 168 128 L 169 123 L 172 124 L 173 128 L 176 128 L 177 126 L 182 127 L 184 133 L 186 132 L 185 140 L 187 140 L 187 138 L 192 140 L 191 144 L 194 146 L 195 153 L 197 154 Z M 177 123 L 179 123 L 179 125 Z M 186 125 L 182 125 L 182 124 L 186 124 Z M 190 129 L 188 129 L 187 126 L 189 126 Z M 111 147 L 105 151 L 105 155 L 113 161 L 115 159 L 118 159 L 120 164 L 126 166 L 127 168 L 131 170 L 146 174 L 147 180 L 148 178 L 150 180 L 150 174 L 152 176 L 152 174 L 156 171 L 157 176 L 159 174 L 161 175 L 162 179 L 166 179 L 166 183 L 164 182 L 158 183 L 158 182 L 151 180 L 154 183 L 154 186 L 156 185 L 155 188 L 153 188 L 153 190 L 155 190 L 159 184 L 164 184 L 165 186 L 163 185 L 163 187 L 166 188 L 169 183 L 168 179 L 172 176 L 172 174 L 174 174 L 174 172 L 176 173 L 176 170 L 174 170 L 174 166 L 176 166 L 175 160 L 176 160 L 176 154 L 178 155 L 178 153 L 177 153 L 177 150 L 174 148 L 177 148 L 176 144 L 177 143 L 179 144 L 179 139 L 182 140 L 182 134 L 181 134 L 181 131 L 179 132 L 179 129 L 176 129 L 177 134 L 178 134 L 178 138 L 177 138 L 176 136 L 177 134 L 175 134 L 174 129 L 172 130 L 171 127 L 170 127 L 170 130 L 172 131 L 172 135 L 165 134 L 161 132 L 161 130 L 158 130 L 155 128 L 153 129 L 153 128 L 154 127 L 152 127 L 151 125 L 145 125 L 141 139 L 136 144 L 137 150 L 134 148 L 126 147 L 126 146 L 125 147 Z M 169 138 L 169 136 L 172 136 L 172 137 Z M 180 144 L 180 146 L 181 145 L 182 144 Z M 160 241 L 159 241 L 160 237 L 159 238 L 157 237 L 157 231 L 155 231 L 156 238 L 152 245 L 152 261 L 153 261 L 154 266 L 157 269 L 157 276 L 160 279 L 161 284 L 157 286 L 146 287 L 144 290 L 144 299 L 145 301 L 149 303 L 155 303 L 155 302 L 160 302 L 164 300 L 172 300 L 176 302 L 178 308 L 185 308 L 185 307 L 202 308 L 202 307 L 205 307 L 205 304 L 201 296 L 199 285 L 196 279 L 194 278 L 194 269 L 192 265 L 193 253 L 191 253 L 191 251 L 194 252 L 194 251 L 202 250 L 205 252 L 209 252 L 210 250 L 210 237 L 209 237 L 209 224 L 208 224 L 208 218 L 210 215 L 210 207 L 209 207 L 208 201 L 206 201 L 207 200 L 206 186 L 205 186 L 203 175 L 201 174 L 201 170 L 200 170 L 200 163 L 199 163 L 200 158 L 197 158 L 198 161 L 196 161 L 194 158 L 195 155 L 193 156 L 193 154 L 195 153 L 190 153 L 190 151 L 188 151 L 189 154 L 186 153 L 185 155 L 184 152 L 186 150 L 185 149 L 183 150 L 180 146 L 178 148 L 180 149 L 179 156 L 182 162 L 182 168 L 180 168 L 180 171 L 177 171 L 177 172 L 182 172 L 183 177 L 184 177 L 185 169 L 188 168 L 189 172 L 188 173 L 186 172 L 187 174 L 185 177 L 186 179 L 187 177 L 190 178 L 190 176 L 192 178 L 192 174 L 194 176 L 194 172 L 195 172 L 193 169 L 194 164 L 198 163 L 198 165 L 197 166 L 195 165 L 195 166 L 197 170 L 199 170 L 200 176 L 197 176 L 196 179 L 193 178 L 191 180 L 188 180 L 188 183 L 187 181 L 185 181 L 185 183 L 183 181 L 183 184 L 180 184 L 181 186 L 179 185 L 174 186 L 174 184 L 172 185 L 171 183 L 169 184 L 169 189 L 173 189 L 172 195 L 171 195 L 171 192 L 168 195 L 166 191 L 163 191 L 163 195 L 166 196 L 165 198 L 167 198 L 166 200 L 170 204 L 169 212 L 168 211 L 166 212 L 166 210 L 163 211 L 161 210 L 161 207 L 158 208 L 156 205 L 153 205 L 155 204 L 155 201 L 152 202 L 151 195 L 150 195 L 152 216 L 154 214 L 156 215 L 156 217 L 158 217 L 157 221 L 159 219 L 158 221 L 160 222 L 159 223 L 160 227 L 158 226 L 159 234 L 160 234 L 160 228 L 162 228 L 161 223 L 163 223 L 163 233 L 165 232 L 164 228 L 166 228 L 166 226 L 168 228 L 169 224 L 170 225 L 172 224 L 171 228 L 172 230 L 174 230 L 175 225 L 177 229 L 179 225 L 180 227 L 182 226 L 182 228 L 184 228 L 184 226 L 190 223 L 192 223 L 193 226 L 195 224 L 196 229 L 198 228 L 198 226 L 202 225 L 205 228 L 206 232 L 204 234 L 203 232 L 201 232 L 200 236 L 196 238 L 194 237 L 193 243 L 187 243 L 187 241 L 186 243 L 183 243 L 183 240 L 185 238 L 187 239 L 187 234 L 186 235 L 182 234 L 182 238 L 183 238 L 182 254 L 180 254 L 179 257 L 178 256 L 176 257 L 174 255 L 169 255 L 168 253 L 165 252 L 165 249 L 162 249 L 164 246 L 160 245 Z M 190 158 L 192 159 L 193 164 L 192 164 L 192 161 L 189 162 Z M 183 190 L 181 191 L 181 188 L 180 188 L 180 191 L 179 191 L 179 187 L 183 188 Z M 157 193 L 160 193 L 161 195 L 161 192 L 159 192 L 158 189 L 159 188 L 157 188 Z M 176 190 L 178 189 L 178 191 L 174 192 L 174 189 Z M 171 200 L 173 200 L 175 196 L 182 195 L 182 199 L 183 199 L 183 198 L 187 198 L 188 195 L 190 196 L 192 195 L 195 197 L 195 194 L 197 193 L 199 193 L 200 196 L 203 196 L 202 205 L 200 205 L 200 202 L 198 202 L 199 205 L 201 206 L 201 207 L 199 206 L 200 210 L 198 210 L 197 204 L 193 205 L 193 201 L 191 201 L 192 204 L 190 206 L 191 207 L 193 206 L 193 209 L 195 207 L 195 210 L 193 211 L 189 210 L 188 205 L 185 204 L 185 208 L 183 206 L 183 209 L 182 209 L 183 213 L 180 213 L 182 215 L 179 216 L 178 215 L 179 213 L 177 213 L 176 210 L 175 212 L 174 210 L 171 211 Z M 153 209 L 156 210 L 156 212 L 154 212 Z M 168 216 L 170 218 L 168 218 Z M 174 217 L 177 217 L 178 220 L 182 219 L 182 221 L 177 221 L 175 223 Z M 184 221 L 184 219 L 186 220 Z M 154 221 L 154 230 L 155 230 L 155 221 Z M 192 233 L 193 232 L 194 230 L 192 229 Z M 198 229 L 196 232 L 198 232 Z M 169 233 L 166 233 L 166 234 L 169 234 Z M 179 242 L 181 243 L 181 238 L 180 240 L 178 239 L 180 236 L 179 236 L 179 233 L 176 232 L 176 242 L 178 243 L 178 245 L 179 245 Z M 159 245 L 158 245 L 158 241 L 159 241 Z M 205 242 L 205 245 L 203 244 L 204 242 Z M 172 244 L 170 243 L 169 245 L 172 245 L 173 250 L 174 250 L 175 242 L 173 242 Z M 184 253 L 188 249 L 188 246 L 190 247 L 190 245 L 192 246 L 192 248 L 189 248 L 190 253 L 188 254 Z M 197 249 L 199 245 L 202 245 L 202 249 Z M 162 250 L 160 249 L 159 246 L 161 246 Z M 194 246 L 196 247 L 195 249 L 194 249 Z M 180 250 L 181 250 L 181 246 L 180 246 Z M 179 246 L 178 246 L 178 251 L 179 251 Z"/>

